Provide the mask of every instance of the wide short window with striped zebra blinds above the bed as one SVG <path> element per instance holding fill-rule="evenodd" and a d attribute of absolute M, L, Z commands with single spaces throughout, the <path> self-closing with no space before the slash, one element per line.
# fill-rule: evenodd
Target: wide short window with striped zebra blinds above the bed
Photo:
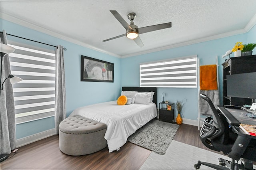
<path fill-rule="evenodd" d="M 140 87 L 197 88 L 197 56 L 140 64 Z"/>

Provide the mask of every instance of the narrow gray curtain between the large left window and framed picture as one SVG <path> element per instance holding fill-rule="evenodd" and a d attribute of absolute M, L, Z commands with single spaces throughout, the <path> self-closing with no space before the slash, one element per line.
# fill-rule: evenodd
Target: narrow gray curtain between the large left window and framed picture
<path fill-rule="evenodd" d="M 66 88 L 64 74 L 63 47 L 56 48 L 56 78 L 55 78 L 55 134 L 59 133 L 60 122 L 66 118 Z"/>

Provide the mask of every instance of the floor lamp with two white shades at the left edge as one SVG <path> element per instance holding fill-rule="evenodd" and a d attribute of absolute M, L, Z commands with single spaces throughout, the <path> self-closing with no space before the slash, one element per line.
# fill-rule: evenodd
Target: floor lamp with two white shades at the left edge
<path fill-rule="evenodd" d="M 3 89 L 4 82 L 7 79 L 10 79 L 10 83 L 15 84 L 19 81 L 22 81 L 20 77 L 15 77 L 14 75 L 8 75 L 6 79 L 4 79 L 4 82 L 2 83 L 2 66 L 3 66 L 3 58 L 6 54 L 12 53 L 15 50 L 14 47 L 11 47 L 9 45 L 5 45 L 3 43 L 0 43 L 0 57 L 1 57 L 1 70 L 0 70 L 0 102 L 1 102 L 1 91 Z M 9 157 L 9 154 L 0 154 L 0 162 L 6 160 Z"/>

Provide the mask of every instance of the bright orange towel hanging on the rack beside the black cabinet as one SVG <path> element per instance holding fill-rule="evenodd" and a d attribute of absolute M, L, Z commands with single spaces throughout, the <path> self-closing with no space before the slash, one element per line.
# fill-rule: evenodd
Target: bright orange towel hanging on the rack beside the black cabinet
<path fill-rule="evenodd" d="M 217 89 L 217 65 L 200 66 L 200 90 Z"/>

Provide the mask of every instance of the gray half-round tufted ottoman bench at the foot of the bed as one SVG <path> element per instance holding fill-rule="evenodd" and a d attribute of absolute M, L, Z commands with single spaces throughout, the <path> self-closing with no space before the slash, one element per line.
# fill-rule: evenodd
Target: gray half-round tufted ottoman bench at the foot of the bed
<path fill-rule="evenodd" d="M 60 150 L 74 156 L 97 152 L 107 146 L 106 130 L 104 123 L 80 115 L 67 117 L 60 123 Z"/>

